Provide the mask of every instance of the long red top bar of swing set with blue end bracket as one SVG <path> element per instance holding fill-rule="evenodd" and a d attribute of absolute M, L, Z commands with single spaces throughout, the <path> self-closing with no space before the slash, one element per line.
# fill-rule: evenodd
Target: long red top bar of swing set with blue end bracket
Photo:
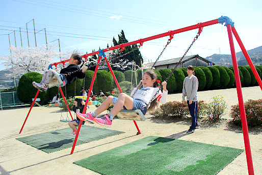
<path fill-rule="evenodd" d="M 173 38 L 174 34 L 187 32 L 187 31 L 194 30 L 194 29 L 199 29 L 199 31 L 202 31 L 203 27 L 211 26 L 211 25 L 217 24 L 217 23 L 222 23 L 223 24 L 224 22 L 225 22 L 225 26 L 227 24 L 231 24 L 231 26 L 233 27 L 234 23 L 232 22 L 232 20 L 229 17 L 221 16 L 218 19 L 214 19 L 214 20 L 210 20 L 210 21 L 202 22 L 202 23 L 200 22 L 200 23 L 197 23 L 197 24 L 195 24 L 193 26 L 189 26 L 189 27 L 185 27 L 185 28 L 181 28 L 181 29 L 177 29 L 177 30 L 173 30 L 173 31 L 168 31 L 168 32 L 163 33 L 163 34 L 154 35 L 154 36 L 151 36 L 151 37 L 139 39 L 139 40 L 132 41 L 132 42 L 119 44 L 119 45 L 116 45 L 114 47 L 109 47 L 109 48 L 106 48 L 106 49 L 102 49 L 101 51 L 102 52 L 108 52 L 108 51 L 112 51 L 112 50 L 118 49 L 118 48 L 121 48 L 121 50 L 123 51 L 126 46 L 134 45 L 134 44 L 140 44 L 140 46 L 142 46 L 143 43 L 146 42 L 146 41 L 150 41 L 150 40 L 153 40 L 153 39 L 158 39 L 158 38 L 162 38 L 162 37 L 166 37 L 166 36 L 169 36 L 170 40 L 171 40 Z M 82 58 L 85 58 L 87 60 L 87 57 L 99 54 L 100 52 L 96 51 L 96 52 L 93 52 L 93 53 L 90 53 L 90 54 L 85 54 L 85 55 L 82 55 Z M 64 60 L 64 61 L 60 61 L 60 62 L 57 62 L 57 63 L 50 64 L 48 66 L 48 69 L 52 68 L 52 66 L 56 66 L 57 67 L 58 64 L 63 64 L 63 66 L 64 66 L 65 63 L 68 62 L 68 61 L 69 61 L 69 59 L 68 60 Z"/>

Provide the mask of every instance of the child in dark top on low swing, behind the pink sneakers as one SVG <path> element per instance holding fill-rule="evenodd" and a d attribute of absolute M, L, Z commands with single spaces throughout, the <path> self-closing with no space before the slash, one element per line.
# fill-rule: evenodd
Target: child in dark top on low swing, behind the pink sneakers
<path fill-rule="evenodd" d="M 75 98 L 74 99 L 74 106 L 73 106 L 73 111 L 75 113 L 80 112 L 82 113 L 85 107 L 85 102 L 83 101 L 82 98 Z M 77 133 L 77 128 L 76 126 L 78 126 L 80 122 L 80 119 L 76 116 L 76 119 L 69 121 L 68 125 L 69 127 L 73 130 L 73 132 L 70 134 L 71 136 L 75 136 Z M 84 126 L 85 121 L 82 122 L 82 126 Z"/>

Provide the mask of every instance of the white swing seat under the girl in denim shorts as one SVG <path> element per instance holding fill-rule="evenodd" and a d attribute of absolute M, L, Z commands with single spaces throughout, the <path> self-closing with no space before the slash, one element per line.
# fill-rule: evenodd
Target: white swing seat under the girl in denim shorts
<path fill-rule="evenodd" d="M 141 110 L 121 110 L 117 113 L 119 119 L 145 121 L 146 118 Z"/>

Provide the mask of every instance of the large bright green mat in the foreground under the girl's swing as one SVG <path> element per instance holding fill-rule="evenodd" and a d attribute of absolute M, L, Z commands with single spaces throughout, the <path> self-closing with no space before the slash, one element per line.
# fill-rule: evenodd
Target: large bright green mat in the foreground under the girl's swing
<path fill-rule="evenodd" d="M 101 174 L 216 174 L 243 149 L 149 136 L 74 162 Z"/>

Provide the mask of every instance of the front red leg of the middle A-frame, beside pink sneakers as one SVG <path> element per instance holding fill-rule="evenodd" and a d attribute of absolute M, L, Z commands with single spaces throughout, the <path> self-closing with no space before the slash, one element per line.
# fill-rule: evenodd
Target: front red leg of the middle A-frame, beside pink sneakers
<path fill-rule="evenodd" d="M 93 76 L 93 78 L 92 78 L 91 85 L 90 85 L 90 88 L 89 88 L 89 91 L 88 91 L 88 94 L 87 94 L 87 100 L 86 100 L 85 107 L 84 107 L 84 109 L 83 109 L 83 114 L 86 113 L 87 104 L 88 104 L 88 99 L 89 99 L 89 96 L 90 96 L 90 94 L 91 94 L 91 91 L 92 91 L 94 82 L 95 82 L 95 76 L 96 76 L 96 73 L 97 73 L 97 70 L 98 70 L 98 66 L 99 66 L 100 60 L 101 60 L 101 56 L 98 57 L 98 61 L 97 61 L 97 64 L 96 64 L 96 66 L 95 66 L 95 72 L 94 72 L 94 76 Z M 75 147 L 75 144 L 76 144 L 76 141 L 77 141 L 77 138 L 78 138 L 78 134 L 79 134 L 80 129 L 81 129 L 81 124 L 82 124 L 82 120 L 81 120 L 80 123 L 78 124 L 78 129 L 77 129 L 76 136 L 75 136 L 75 138 L 74 138 L 74 143 L 73 143 L 73 146 L 72 146 L 71 154 L 73 154 L 73 152 L 74 152 L 74 147 Z"/>

